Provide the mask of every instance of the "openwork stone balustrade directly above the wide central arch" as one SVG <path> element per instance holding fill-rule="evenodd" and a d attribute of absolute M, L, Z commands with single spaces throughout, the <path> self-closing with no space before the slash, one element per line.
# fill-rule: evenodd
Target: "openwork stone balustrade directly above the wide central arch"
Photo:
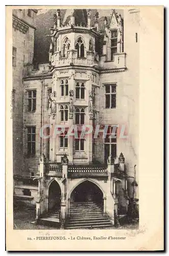
<path fill-rule="evenodd" d="M 69 165 L 69 177 L 107 176 L 106 165 Z"/>

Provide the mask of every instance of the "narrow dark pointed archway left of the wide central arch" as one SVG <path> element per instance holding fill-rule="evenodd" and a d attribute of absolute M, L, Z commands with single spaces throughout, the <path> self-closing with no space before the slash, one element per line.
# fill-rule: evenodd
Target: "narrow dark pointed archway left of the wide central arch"
<path fill-rule="evenodd" d="M 53 180 L 49 186 L 48 210 L 60 210 L 61 188 L 57 181 Z"/>

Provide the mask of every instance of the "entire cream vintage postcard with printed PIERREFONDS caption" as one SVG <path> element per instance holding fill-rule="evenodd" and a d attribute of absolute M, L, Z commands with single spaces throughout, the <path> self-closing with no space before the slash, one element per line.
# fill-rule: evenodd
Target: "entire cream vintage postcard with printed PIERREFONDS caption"
<path fill-rule="evenodd" d="M 7 250 L 164 249 L 163 12 L 6 7 Z"/>

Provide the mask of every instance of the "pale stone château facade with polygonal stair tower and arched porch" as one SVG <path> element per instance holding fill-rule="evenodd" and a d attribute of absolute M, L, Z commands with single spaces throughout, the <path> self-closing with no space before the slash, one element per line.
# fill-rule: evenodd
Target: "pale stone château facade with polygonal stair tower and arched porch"
<path fill-rule="evenodd" d="M 90 204 L 100 222 L 87 218 L 88 226 L 114 225 L 138 196 L 139 10 L 99 15 L 56 10 L 48 63 L 27 68 L 23 78 L 23 167 L 15 198 L 36 205 L 37 221 L 67 228 L 85 226 L 78 214 Z M 53 136 L 56 125 L 66 128 Z M 66 136 L 72 125 L 77 138 Z M 106 137 L 100 131 L 80 138 L 83 125 L 108 125 Z M 113 125 L 116 136 L 109 138 Z"/>

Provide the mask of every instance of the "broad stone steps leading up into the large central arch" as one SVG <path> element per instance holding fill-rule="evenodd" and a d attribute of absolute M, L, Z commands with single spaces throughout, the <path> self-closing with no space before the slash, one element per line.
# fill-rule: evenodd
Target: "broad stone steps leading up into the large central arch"
<path fill-rule="evenodd" d="M 95 202 L 70 203 L 66 229 L 110 228 L 112 223 L 103 215 L 103 207 Z"/>

